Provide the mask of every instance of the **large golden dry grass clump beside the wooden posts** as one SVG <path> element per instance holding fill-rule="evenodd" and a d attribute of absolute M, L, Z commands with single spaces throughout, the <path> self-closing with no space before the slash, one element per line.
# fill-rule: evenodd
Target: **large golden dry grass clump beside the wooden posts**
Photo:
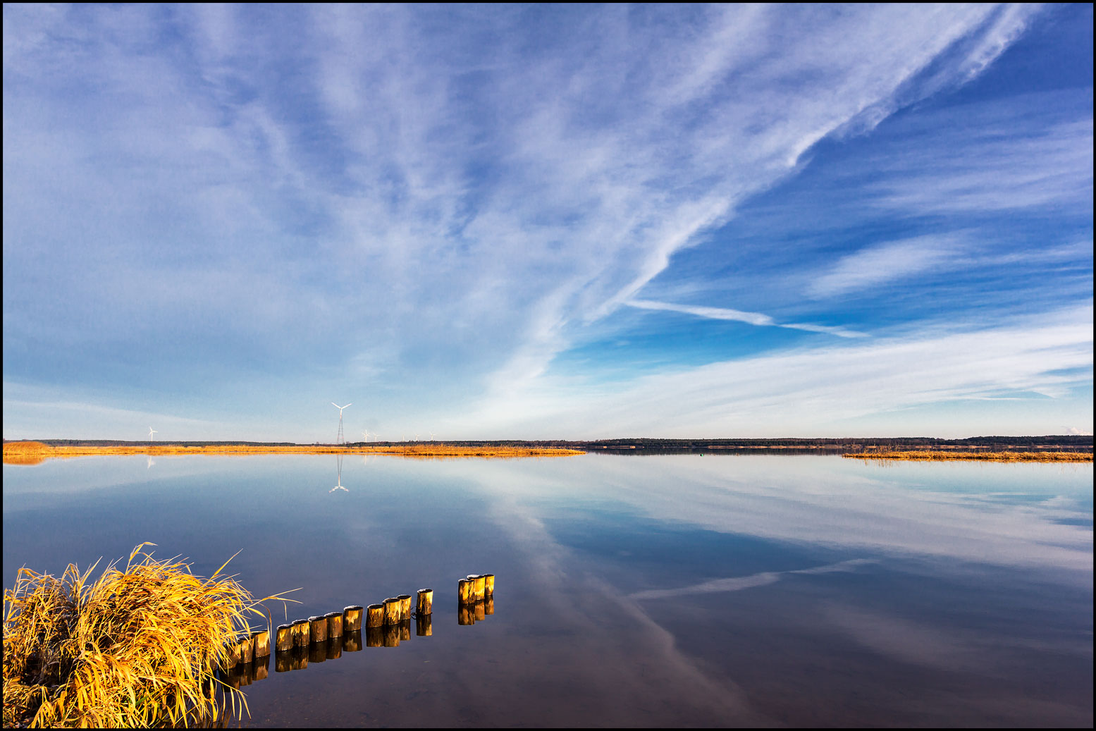
<path fill-rule="evenodd" d="M 94 566 L 20 569 L 3 597 L 5 728 L 193 726 L 247 707 L 214 673 L 259 602 L 224 566 L 203 579 L 150 545 L 91 583 Z"/>

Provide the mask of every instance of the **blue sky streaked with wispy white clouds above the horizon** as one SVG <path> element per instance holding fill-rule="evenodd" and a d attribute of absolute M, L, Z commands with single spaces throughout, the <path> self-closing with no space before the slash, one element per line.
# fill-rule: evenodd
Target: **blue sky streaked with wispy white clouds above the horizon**
<path fill-rule="evenodd" d="M 7 438 L 1092 433 L 1092 5 L 4 5 Z"/>

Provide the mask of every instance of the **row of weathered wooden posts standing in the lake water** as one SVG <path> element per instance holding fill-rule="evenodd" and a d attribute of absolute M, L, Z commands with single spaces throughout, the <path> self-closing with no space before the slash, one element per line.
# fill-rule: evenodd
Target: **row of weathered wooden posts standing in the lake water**
<path fill-rule="evenodd" d="M 494 614 L 494 574 L 469 574 L 457 582 L 457 624 L 471 625 Z M 434 590 L 420 589 L 415 602 L 415 635 L 433 635 Z M 398 647 L 400 640 L 411 639 L 411 595 L 400 594 L 385 599 L 381 604 L 367 607 L 353 605 L 342 612 L 329 612 L 322 616 L 297 619 L 288 625 L 279 625 L 275 632 L 274 649 L 278 654 L 276 670 L 297 670 L 301 661 L 323 662 L 338 658 L 343 650 L 356 652 L 362 649 L 362 617 L 365 615 L 366 647 Z M 241 637 L 229 648 L 224 670 L 255 663 L 255 679 L 266 677 L 267 659 L 271 654 L 271 633 L 260 629 Z M 321 652 L 322 650 L 322 652 Z M 285 653 L 285 662 L 282 654 Z M 295 656 L 290 658 L 290 653 Z M 322 654 L 322 658 L 320 656 Z M 261 673 L 258 670 L 262 665 Z M 285 665 L 285 667 L 283 667 Z M 260 677 L 260 674 L 262 677 Z"/>

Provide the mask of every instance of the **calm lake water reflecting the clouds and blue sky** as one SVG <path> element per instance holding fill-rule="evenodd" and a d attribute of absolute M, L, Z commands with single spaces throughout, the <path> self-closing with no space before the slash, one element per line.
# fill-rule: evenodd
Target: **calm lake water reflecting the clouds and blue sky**
<path fill-rule="evenodd" d="M 1093 724 L 1093 467 L 834 456 L 90 457 L 3 467 L 3 574 L 228 557 L 288 619 L 432 636 L 248 685 L 259 727 Z M 457 580 L 494 573 L 458 624 Z M 275 624 L 286 620 L 272 607 Z"/>

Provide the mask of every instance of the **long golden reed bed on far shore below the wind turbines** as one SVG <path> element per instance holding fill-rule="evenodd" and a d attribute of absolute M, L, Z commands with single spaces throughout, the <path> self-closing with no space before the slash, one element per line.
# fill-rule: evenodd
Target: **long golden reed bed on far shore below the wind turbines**
<path fill-rule="evenodd" d="M 541 447 L 465 447 L 446 444 L 335 447 L 331 445 L 255 446 L 219 444 L 209 446 L 127 445 L 127 446 L 50 446 L 42 442 L 8 442 L 3 461 L 8 465 L 38 465 L 46 459 L 102 455 L 398 455 L 400 457 L 557 457 L 581 455 L 578 449 Z"/>

